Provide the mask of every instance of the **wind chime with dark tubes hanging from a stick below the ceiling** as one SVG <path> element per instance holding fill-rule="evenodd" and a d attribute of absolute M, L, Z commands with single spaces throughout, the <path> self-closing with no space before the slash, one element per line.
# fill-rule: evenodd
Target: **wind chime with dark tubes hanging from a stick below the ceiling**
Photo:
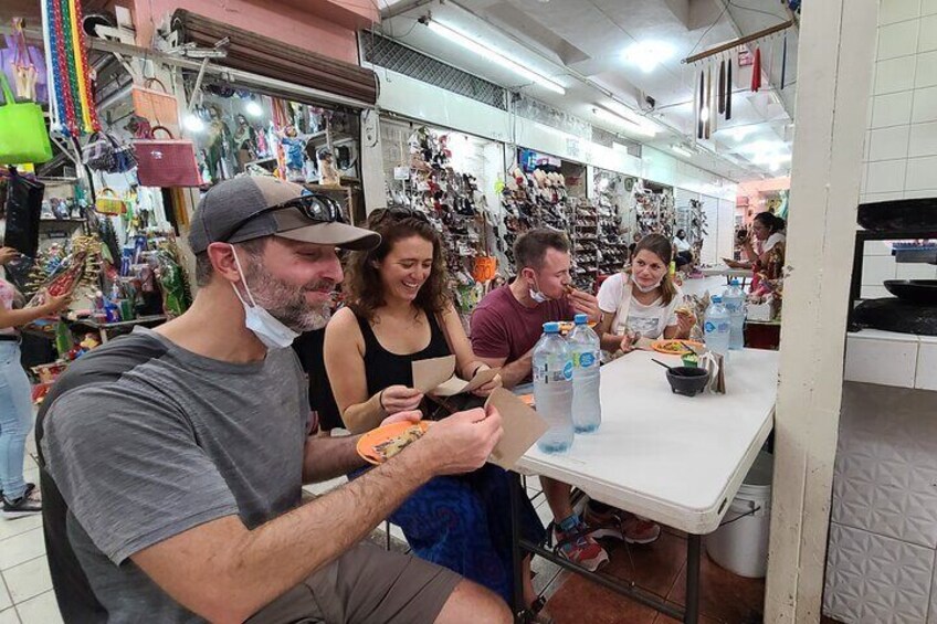
<path fill-rule="evenodd" d="M 793 21 L 788 21 L 782 24 L 765 29 L 764 31 L 759 31 L 757 33 L 740 38 L 730 43 L 719 45 L 714 50 L 701 52 L 699 54 L 695 54 L 683 60 L 684 63 L 694 65 L 701 61 L 708 60 L 705 66 L 699 68 L 698 80 L 695 75 L 693 80 L 693 115 L 696 140 L 712 138 L 713 133 L 715 133 L 717 129 L 719 116 L 722 116 L 726 121 L 731 119 L 733 85 L 735 84 L 733 78 L 733 65 L 737 63 L 739 67 L 743 66 L 743 63 L 739 62 L 739 50 L 744 50 L 747 52 L 748 49 L 744 46 L 748 43 L 756 42 L 755 51 L 751 54 L 752 61 L 750 63 L 751 82 L 749 86 L 751 93 L 758 93 L 759 91 L 761 91 L 762 73 L 767 73 L 770 80 L 773 68 L 772 66 L 770 66 L 770 63 L 773 62 L 775 57 L 773 41 L 771 41 L 771 46 L 768 50 L 769 66 L 767 67 L 762 66 L 761 45 L 759 45 L 757 42 L 759 40 L 764 40 L 767 36 L 775 35 L 778 32 L 783 32 L 783 42 L 781 47 L 780 60 L 781 70 L 780 77 L 778 81 L 778 89 L 783 91 L 783 88 L 787 86 L 787 29 L 792 25 Z"/>

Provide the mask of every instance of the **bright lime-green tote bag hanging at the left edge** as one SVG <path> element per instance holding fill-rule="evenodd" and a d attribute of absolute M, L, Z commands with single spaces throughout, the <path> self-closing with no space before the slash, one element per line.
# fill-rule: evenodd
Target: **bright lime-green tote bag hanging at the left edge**
<path fill-rule="evenodd" d="M 17 102 L 3 70 L 0 95 L 0 165 L 52 160 L 42 107 L 34 102 Z"/>

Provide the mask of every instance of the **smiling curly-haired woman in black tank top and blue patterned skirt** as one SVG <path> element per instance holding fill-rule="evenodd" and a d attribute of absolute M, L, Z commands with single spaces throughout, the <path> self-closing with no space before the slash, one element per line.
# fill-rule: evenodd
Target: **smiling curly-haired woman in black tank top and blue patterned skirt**
<path fill-rule="evenodd" d="M 420 409 L 412 363 L 455 355 L 456 374 L 472 379 L 487 368 L 472 352 L 450 300 L 442 242 L 423 213 L 375 211 L 368 228 L 380 246 L 354 252 L 346 267 L 348 307 L 326 328 L 325 363 L 339 413 L 355 433 L 389 414 Z M 501 378 L 483 385 L 485 396 Z M 425 406 L 425 405 L 424 405 Z M 425 415 L 424 409 L 424 415 Z M 413 552 L 512 600 L 510 517 L 507 474 L 486 464 L 468 475 L 436 477 L 401 505 L 390 520 Z M 527 501 L 526 539 L 541 541 L 543 523 Z M 536 597 L 526 567 L 525 594 Z"/>

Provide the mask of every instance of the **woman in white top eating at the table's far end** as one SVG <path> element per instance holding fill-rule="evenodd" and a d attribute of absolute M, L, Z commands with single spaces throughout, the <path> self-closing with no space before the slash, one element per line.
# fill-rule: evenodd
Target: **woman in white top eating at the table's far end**
<path fill-rule="evenodd" d="M 602 350 L 628 351 L 635 338 L 688 338 L 693 315 L 677 314 L 681 293 L 671 278 L 671 242 L 660 234 L 644 236 L 631 266 L 612 275 L 599 289 Z"/>

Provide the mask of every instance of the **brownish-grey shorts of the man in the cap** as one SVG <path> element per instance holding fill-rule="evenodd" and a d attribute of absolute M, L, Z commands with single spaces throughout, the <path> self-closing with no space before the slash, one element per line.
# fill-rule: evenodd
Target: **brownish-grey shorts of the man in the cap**
<path fill-rule="evenodd" d="M 462 577 L 362 542 L 248 620 L 248 624 L 431 623 Z"/>

